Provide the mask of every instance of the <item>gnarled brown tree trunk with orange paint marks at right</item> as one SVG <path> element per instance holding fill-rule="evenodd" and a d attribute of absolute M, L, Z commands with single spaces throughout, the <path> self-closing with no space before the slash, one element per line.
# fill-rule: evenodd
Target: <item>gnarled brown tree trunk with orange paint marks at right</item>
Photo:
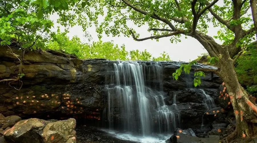
<path fill-rule="evenodd" d="M 236 117 L 236 131 L 233 135 L 249 138 L 257 134 L 257 107 L 249 100 L 248 93 L 240 85 L 234 70 L 234 60 L 225 52 L 217 65 L 220 67 L 218 75 L 224 81 L 230 96 L 230 102 Z M 231 136 L 235 137 L 235 136 Z"/>

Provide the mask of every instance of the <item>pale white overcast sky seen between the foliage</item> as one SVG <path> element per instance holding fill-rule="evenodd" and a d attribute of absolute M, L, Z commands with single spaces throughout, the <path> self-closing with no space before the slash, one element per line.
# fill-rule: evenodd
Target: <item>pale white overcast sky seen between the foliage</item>
<path fill-rule="evenodd" d="M 54 14 L 51 15 L 51 20 L 54 21 L 55 23 L 55 29 L 57 29 L 57 19 L 58 15 Z M 100 19 L 99 22 L 103 21 L 103 19 Z M 149 37 L 150 33 L 147 31 L 148 26 L 145 25 L 143 27 L 136 27 L 134 25 L 131 25 L 134 29 L 136 29 L 137 33 L 140 34 L 140 38 L 143 37 Z M 208 35 L 214 36 L 217 34 L 217 31 L 219 28 L 214 28 L 212 25 L 208 28 Z M 61 31 L 64 31 L 64 27 L 61 27 Z M 81 40 L 85 39 L 83 37 L 83 32 L 82 28 L 80 26 L 74 26 L 69 29 L 69 37 L 73 37 L 74 35 L 77 35 Z M 91 34 L 93 41 L 98 41 L 97 33 L 95 30 L 95 27 L 90 27 L 87 29 L 89 34 Z M 161 38 L 157 42 L 156 40 L 146 40 L 146 41 L 134 41 L 132 37 L 107 37 L 105 34 L 102 37 L 103 41 L 111 41 L 113 40 L 115 44 L 122 45 L 125 44 L 126 50 L 130 51 L 133 49 L 138 49 L 140 51 L 143 51 L 146 49 L 148 52 L 152 54 L 153 57 L 158 57 L 160 53 L 163 51 L 166 51 L 170 55 L 170 58 L 173 61 L 189 61 L 194 60 L 197 58 L 198 55 L 201 53 L 207 53 L 207 51 L 203 48 L 203 46 L 194 38 L 188 37 L 187 39 L 184 38 L 184 36 L 181 37 L 181 42 L 180 43 L 171 43 L 169 37 Z"/>

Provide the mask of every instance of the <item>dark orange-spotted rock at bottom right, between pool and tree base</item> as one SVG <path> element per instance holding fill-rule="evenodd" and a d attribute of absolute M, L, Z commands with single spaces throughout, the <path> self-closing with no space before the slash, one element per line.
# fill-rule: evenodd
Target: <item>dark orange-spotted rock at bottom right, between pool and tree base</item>
<path fill-rule="evenodd" d="M 219 136 L 209 136 L 208 138 L 196 137 L 192 129 L 182 130 L 178 128 L 167 140 L 167 143 L 219 143 Z"/>

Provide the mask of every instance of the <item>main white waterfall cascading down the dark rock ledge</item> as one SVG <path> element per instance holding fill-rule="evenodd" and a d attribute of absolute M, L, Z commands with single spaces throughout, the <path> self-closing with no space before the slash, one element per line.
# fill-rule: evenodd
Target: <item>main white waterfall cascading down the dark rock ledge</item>
<path fill-rule="evenodd" d="M 165 105 L 163 72 L 158 62 L 146 65 L 124 61 L 107 69 L 110 128 L 143 135 L 168 133 L 176 128 L 180 120 L 176 95 L 172 106 Z"/>

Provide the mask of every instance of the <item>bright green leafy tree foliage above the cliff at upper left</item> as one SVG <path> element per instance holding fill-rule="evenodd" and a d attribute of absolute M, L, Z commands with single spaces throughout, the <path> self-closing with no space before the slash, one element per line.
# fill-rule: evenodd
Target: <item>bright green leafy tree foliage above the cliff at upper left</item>
<path fill-rule="evenodd" d="M 44 48 L 54 33 L 51 13 L 73 6 L 77 0 L 3 0 L 0 3 L 1 45 L 23 49 Z M 68 6 L 69 5 L 69 6 Z"/>

